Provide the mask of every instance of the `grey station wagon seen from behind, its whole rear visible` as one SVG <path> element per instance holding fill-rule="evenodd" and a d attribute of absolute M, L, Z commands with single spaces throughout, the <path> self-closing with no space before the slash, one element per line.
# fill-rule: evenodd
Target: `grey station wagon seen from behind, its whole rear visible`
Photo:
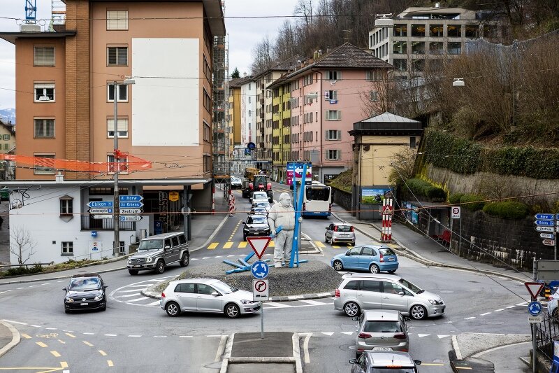
<path fill-rule="evenodd" d="M 363 311 L 357 319 L 356 356 L 363 351 L 409 351 L 406 321 L 400 311 Z"/>

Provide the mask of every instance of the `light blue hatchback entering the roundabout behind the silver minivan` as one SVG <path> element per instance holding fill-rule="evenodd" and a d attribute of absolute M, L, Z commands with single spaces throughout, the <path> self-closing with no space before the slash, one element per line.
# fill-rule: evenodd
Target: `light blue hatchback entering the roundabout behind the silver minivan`
<path fill-rule="evenodd" d="M 388 246 L 363 245 L 350 248 L 331 260 L 336 271 L 342 269 L 363 269 L 370 273 L 396 272 L 398 257 Z"/>

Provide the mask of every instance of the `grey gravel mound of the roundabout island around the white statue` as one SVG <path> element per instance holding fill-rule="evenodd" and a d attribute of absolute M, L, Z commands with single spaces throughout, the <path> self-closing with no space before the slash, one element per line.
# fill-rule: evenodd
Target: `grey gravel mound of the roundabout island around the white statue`
<path fill-rule="evenodd" d="M 197 277 L 219 279 L 235 288 L 252 292 L 252 273 L 246 271 L 225 274 L 230 269 L 233 267 L 225 263 L 187 267 L 186 271 L 176 279 L 195 279 Z M 342 276 L 325 263 L 310 261 L 301 263 L 298 268 L 270 267 L 268 280 L 270 281 L 270 297 L 278 297 L 333 292 L 342 281 Z M 164 281 L 148 290 L 161 292 L 166 288 L 168 282 Z"/>

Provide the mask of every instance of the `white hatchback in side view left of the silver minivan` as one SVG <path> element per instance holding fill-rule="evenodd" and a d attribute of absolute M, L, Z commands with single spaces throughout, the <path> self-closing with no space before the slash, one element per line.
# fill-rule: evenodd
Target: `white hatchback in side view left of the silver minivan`
<path fill-rule="evenodd" d="M 252 293 L 239 290 L 216 279 L 184 279 L 170 281 L 159 301 L 169 316 L 183 311 L 223 313 L 228 318 L 259 311 L 259 302 Z"/>

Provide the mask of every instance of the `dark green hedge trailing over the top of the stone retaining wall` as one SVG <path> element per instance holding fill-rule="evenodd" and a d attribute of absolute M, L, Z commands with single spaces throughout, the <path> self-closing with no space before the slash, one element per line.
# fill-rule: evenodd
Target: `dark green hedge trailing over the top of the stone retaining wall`
<path fill-rule="evenodd" d="M 423 141 L 422 141 L 423 142 Z M 559 149 L 533 146 L 486 148 L 449 132 L 426 129 L 424 160 L 458 174 L 486 171 L 528 178 L 559 178 Z"/>

